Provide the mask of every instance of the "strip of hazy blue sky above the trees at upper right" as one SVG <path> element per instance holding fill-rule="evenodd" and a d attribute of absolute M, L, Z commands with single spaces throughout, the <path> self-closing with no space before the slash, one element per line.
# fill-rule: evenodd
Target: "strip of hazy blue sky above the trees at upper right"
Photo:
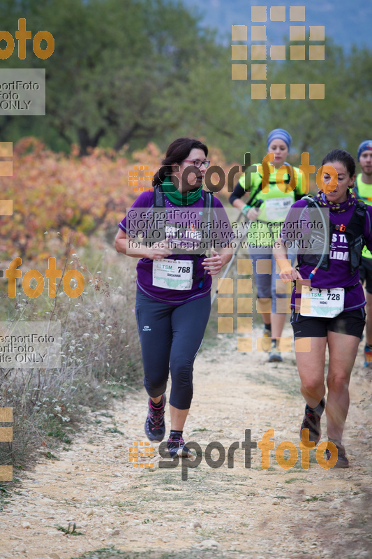
<path fill-rule="evenodd" d="M 283 36 L 289 35 L 290 6 L 305 6 L 305 22 L 296 25 L 324 25 L 325 35 L 335 43 L 350 50 L 354 43 L 358 47 L 372 49 L 372 0 L 183 0 L 202 13 L 201 24 L 218 30 L 217 39 L 230 43 L 231 26 L 251 24 L 251 6 L 267 6 L 267 40 L 281 44 Z M 269 7 L 285 6 L 285 22 L 270 22 Z M 308 31 L 308 29 L 306 29 Z"/>

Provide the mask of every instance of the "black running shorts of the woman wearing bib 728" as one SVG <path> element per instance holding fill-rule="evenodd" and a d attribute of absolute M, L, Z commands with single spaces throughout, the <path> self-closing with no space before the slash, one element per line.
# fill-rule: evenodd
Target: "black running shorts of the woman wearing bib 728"
<path fill-rule="evenodd" d="M 364 308 L 341 312 L 333 319 L 322 317 L 303 317 L 299 312 L 292 310 L 290 319 L 293 334 L 296 337 L 327 337 L 327 332 L 348 334 L 350 336 L 362 337 L 364 325 L 366 324 L 366 313 Z"/>

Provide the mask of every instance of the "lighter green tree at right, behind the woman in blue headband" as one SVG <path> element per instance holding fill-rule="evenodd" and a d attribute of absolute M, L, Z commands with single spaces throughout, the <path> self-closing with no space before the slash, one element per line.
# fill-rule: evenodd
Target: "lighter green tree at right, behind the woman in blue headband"
<path fill-rule="evenodd" d="M 287 58 L 290 44 L 295 43 L 287 43 Z M 307 45 L 308 41 L 306 50 Z M 294 150 L 297 154 L 309 152 L 315 166 L 334 148 L 356 155 L 359 143 L 371 136 L 371 51 L 354 48 L 345 53 L 327 39 L 324 61 L 268 61 L 267 82 L 285 83 L 287 99 L 250 103 L 256 131 L 254 145 L 262 152 L 266 150 L 267 132 L 278 127 L 290 131 Z M 306 84 L 307 99 L 290 99 L 290 83 Z M 308 99 L 310 83 L 325 84 L 325 99 Z"/>

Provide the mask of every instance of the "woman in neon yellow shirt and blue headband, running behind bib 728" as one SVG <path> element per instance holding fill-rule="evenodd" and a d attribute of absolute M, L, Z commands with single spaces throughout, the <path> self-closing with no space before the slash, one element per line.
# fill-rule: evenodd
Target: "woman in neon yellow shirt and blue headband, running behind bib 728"
<path fill-rule="evenodd" d="M 239 208 L 251 221 L 247 240 L 249 254 L 253 261 L 257 296 L 262 303 L 265 300 L 271 300 L 271 312 L 262 312 L 264 322 L 262 349 L 270 351 L 269 363 L 283 361 L 276 340 L 281 337 L 287 314 L 283 312 L 280 304 L 277 308 L 277 301 L 288 296 L 285 287 L 283 286 L 282 289 L 281 282 L 278 281 L 279 275 L 276 272 L 276 262 L 272 251 L 291 205 L 304 195 L 304 177 L 297 167 L 293 167 L 292 178 L 288 173 L 284 173 L 281 180 L 276 176 L 278 169 L 282 166 L 286 166 L 290 171 L 290 165 L 285 159 L 290 150 L 291 141 L 292 137 L 288 131 L 282 128 L 271 130 L 267 137 L 267 153 L 274 153 L 275 158 L 270 165 L 269 188 L 263 187 L 264 171 L 262 165 L 257 164 L 257 170 L 255 173 L 251 173 L 251 184 L 246 184 L 246 177 L 242 175 L 229 198 L 230 203 L 235 208 Z M 248 192 L 249 200 L 246 203 L 241 198 Z M 253 207 L 258 201 L 260 201 L 260 207 Z M 295 255 L 289 256 L 289 258 L 293 263 Z M 271 266 L 271 273 L 257 272 L 259 260 L 268 261 L 267 270 Z"/>

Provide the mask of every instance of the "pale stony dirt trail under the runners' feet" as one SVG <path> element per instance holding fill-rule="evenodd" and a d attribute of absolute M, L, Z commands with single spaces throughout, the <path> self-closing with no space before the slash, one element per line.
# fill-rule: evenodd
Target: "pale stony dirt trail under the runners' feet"
<path fill-rule="evenodd" d="M 211 441 L 228 449 L 244 440 L 245 429 L 258 442 L 274 428 L 276 447 L 289 440 L 298 448 L 304 402 L 294 355 L 269 364 L 265 354 L 237 353 L 235 337 L 219 337 L 218 347 L 204 348 L 195 362 L 186 440 L 203 450 Z M 314 451 L 308 470 L 300 460 L 284 470 L 274 451 L 269 470 L 262 470 L 259 449 L 249 469 L 242 449 L 230 469 L 227 460 L 212 469 L 203 457 L 187 481 L 180 465 L 159 469 L 158 457 L 154 468 L 136 469 L 128 448 L 145 440 L 142 389 L 110 412 L 87 412 L 89 424 L 70 450 L 58 461 L 42 459 L 24 477 L 1 513 L 0 559 L 70 559 L 98 549 L 106 551 L 94 557 L 105 559 L 371 557 L 371 374 L 361 351 L 362 344 L 344 437 L 349 470 L 322 469 Z M 168 413 L 166 420 L 169 426 Z M 83 535 L 56 529 L 69 522 Z"/>

